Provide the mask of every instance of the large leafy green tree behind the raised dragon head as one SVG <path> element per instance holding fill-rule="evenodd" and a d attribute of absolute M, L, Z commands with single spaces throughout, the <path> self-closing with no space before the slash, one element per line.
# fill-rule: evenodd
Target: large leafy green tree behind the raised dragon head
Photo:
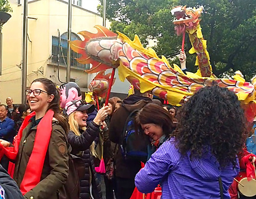
<path fill-rule="evenodd" d="M 144 46 L 149 39 L 156 39 L 156 53 L 171 58 L 181 48 L 181 37 L 176 36 L 170 13 L 179 5 L 204 6 L 200 24 L 216 76 L 238 69 L 247 80 L 256 74 L 254 0 L 107 0 L 107 18 L 112 22 L 112 31 L 118 30 L 130 38 L 137 34 Z M 187 35 L 187 67 L 195 72 L 195 54 L 188 54 L 190 48 Z"/>

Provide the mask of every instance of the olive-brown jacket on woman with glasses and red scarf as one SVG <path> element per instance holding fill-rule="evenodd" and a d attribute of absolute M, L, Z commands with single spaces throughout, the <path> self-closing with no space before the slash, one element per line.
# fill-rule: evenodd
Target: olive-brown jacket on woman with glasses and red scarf
<path fill-rule="evenodd" d="M 13 179 L 21 185 L 29 157 L 35 142 L 37 126 L 31 128 L 32 122 L 23 130 Z M 27 138 L 26 138 L 27 137 Z M 26 142 L 24 142 L 26 138 Z M 57 199 L 58 190 L 63 186 L 68 176 L 67 135 L 58 121 L 52 122 L 52 134 L 43 165 L 41 181 L 24 195 L 24 198 Z"/>

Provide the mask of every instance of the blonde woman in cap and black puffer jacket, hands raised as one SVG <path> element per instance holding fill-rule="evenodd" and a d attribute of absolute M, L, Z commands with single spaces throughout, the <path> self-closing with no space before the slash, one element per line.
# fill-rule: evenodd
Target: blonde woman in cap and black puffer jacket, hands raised
<path fill-rule="evenodd" d="M 105 120 L 109 115 L 109 106 L 102 107 L 92 122 L 87 123 L 87 113 L 95 110 L 94 105 L 86 104 L 81 100 L 66 103 L 65 112 L 68 115 L 70 132 L 68 142 L 72 147 L 71 154 L 80 156 L 85 162 L 85 176 L 80 182 L 81 199 L 101 199 L 101 187 L 96 177 L 93 156 L 95 156 L 95 145 L 93 141 L 99 135 L 100 126 L 106 126 Z"/>

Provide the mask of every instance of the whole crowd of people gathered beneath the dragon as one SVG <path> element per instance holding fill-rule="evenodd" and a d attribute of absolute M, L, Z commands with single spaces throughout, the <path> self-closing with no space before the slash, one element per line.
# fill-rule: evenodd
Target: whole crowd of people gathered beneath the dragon
<path fill-rule="evenodd" d="M 157 186 L 163 199 L 247 198 L 234 178 L 249 167 L 255 178 L 255 135 L 228 89 L 201 88 L 181 107 L 134 89 L 99 110 L 73 82 L 38 78 L 26 95 L 0 105 L 1 165 L 13 178 L 0 166 L 0 198 L 101 199 L 102 184 L 106 199 Z"/>

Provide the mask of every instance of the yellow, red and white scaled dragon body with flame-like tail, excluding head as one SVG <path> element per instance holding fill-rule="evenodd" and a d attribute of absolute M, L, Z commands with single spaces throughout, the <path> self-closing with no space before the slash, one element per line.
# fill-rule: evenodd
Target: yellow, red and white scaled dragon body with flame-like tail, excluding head
<path fill-rule="evenodd" d="M 170 66 L 164 56 L 159 58 L 152 48 L 145 49 L 137 36 L 131 41 L 120 32 L 117 36 L 105 27 L 95 28 L 97 33 L 79 33 L 85 38 L 84 41 L 70 42 L 73 51 L 82 54 L 77 61 L 92 64 L 92 68 L 86 71 L 88 73 L 118 67 L 121 81 L 126 78 L 141 92 L 150 91 L 155 96 L 168 100 L 172 105 L 184 103 L 198 89 L 213 84 L 234 91 L 245 103 L 255 99 L 255 88 L 249 82 L 218 79 L 211 74 L 209 54 L 204 46 L 206 42 L 203 37 L 199 39 L 198 30 L 190 37 L 194 38 L 193 51 L 198 51 L 198 63 L 202 63 L 199 64 L 199 75 L 185 74 L 176 64 Z"/>

